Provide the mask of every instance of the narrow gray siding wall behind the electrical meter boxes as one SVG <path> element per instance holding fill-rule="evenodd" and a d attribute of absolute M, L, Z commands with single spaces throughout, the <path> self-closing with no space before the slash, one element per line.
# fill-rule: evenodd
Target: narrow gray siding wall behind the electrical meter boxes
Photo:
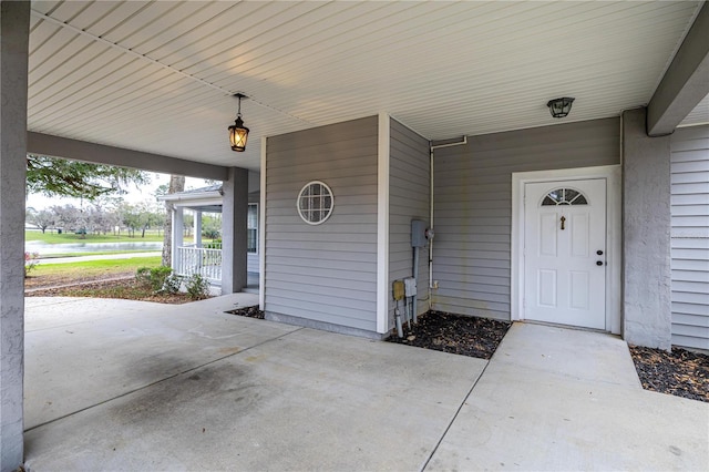
<path fill-rule="evenodd" d="M 389 151 L 389 287 L 413 275 L 411 220 L 429 220 L 431 167 L 428 140 L 390 120 Z M 429 249 L 419 249 L 419 314 L 429 308 Z M 400 302 L 403 318 L 403 304 Z M 389 301 L 389 328 L 394 327 L 394 301 Z"/>

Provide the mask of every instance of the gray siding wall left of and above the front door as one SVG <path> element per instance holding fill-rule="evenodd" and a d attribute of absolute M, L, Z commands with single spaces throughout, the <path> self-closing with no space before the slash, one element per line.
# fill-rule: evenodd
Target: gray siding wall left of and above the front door
<path fill-rule="evenodd" d="M 619 164 L 619 120 L 469 137 L 435 151 L 433 308 L 508 320 L 512 173 Z"/>

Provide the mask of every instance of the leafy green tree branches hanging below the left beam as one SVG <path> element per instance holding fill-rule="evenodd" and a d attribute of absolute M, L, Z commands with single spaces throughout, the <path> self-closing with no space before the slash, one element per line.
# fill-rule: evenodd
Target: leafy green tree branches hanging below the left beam
<path fill-rule="evenodd" d="M 93 201 L 101 195 L 125 193 L 124 187 L 131 183 L 144 185 L 150 183 L 150 177 L 134 168 L 35 154 L 27 156 L 28 193 Z"/>

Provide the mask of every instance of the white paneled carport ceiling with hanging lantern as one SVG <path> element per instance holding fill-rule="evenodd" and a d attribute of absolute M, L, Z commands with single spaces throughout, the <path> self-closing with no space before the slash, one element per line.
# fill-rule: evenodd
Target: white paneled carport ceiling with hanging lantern
<path fill-rule="evenodd" d="M 557 96 L 576 98 L 563 122 L 617 116 L 700 6 L 33 1 L 29 130 L 258 170 L 260 136 L 378 112 L 431 140 L 558 123 Z"/>

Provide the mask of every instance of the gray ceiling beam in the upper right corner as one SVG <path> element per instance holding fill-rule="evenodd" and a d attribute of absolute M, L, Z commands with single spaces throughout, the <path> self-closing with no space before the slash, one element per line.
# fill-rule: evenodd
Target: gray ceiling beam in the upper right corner
<path fill-rule="evenodd" d="M 670 134 L 709 94 L 709 3 L 705 3 L 647 109 L 648 136 Z"/>

